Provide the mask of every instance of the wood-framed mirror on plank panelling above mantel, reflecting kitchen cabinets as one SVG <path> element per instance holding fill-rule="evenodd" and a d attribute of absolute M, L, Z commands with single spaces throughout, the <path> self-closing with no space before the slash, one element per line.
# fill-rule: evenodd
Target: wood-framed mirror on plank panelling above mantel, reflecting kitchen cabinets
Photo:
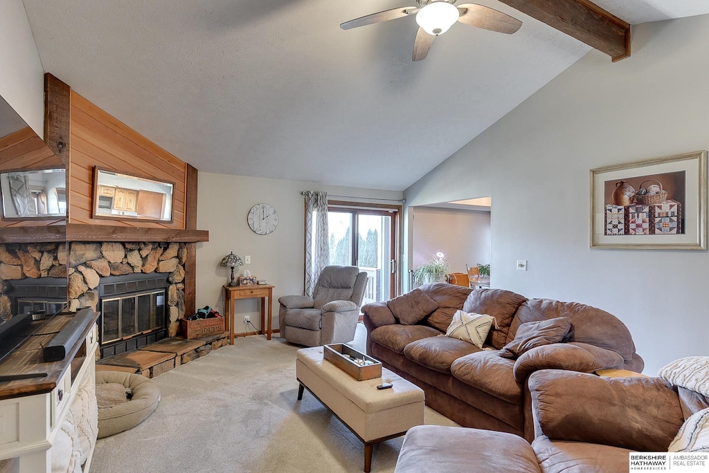
<path fill-rule="evenodd" d="M 94 167 L 94 218 L 172 222 L 174 183 Z"/>

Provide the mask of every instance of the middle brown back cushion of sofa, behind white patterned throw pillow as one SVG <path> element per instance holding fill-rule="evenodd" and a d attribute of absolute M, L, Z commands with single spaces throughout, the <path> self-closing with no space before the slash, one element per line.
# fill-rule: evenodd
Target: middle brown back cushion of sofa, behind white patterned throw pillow
<path fill-rule="evenodd" d="M 491 329 L 488 343 L 499 350 L 508 342 L 507 333 L 512 319 L 525 300 L 527 297 L 507 290 L 476 289 L 465 300 L 463 310 L 495 317 L 497 327 Z"/>

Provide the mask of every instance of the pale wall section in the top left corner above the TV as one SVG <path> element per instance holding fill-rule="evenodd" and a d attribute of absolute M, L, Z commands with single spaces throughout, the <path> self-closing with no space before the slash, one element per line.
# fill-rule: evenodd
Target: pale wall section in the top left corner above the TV
<path fill-rule="evenodd" d="M 0 96 L 44 137 L 44 69 L 22 0 L 0 1 Z"/>

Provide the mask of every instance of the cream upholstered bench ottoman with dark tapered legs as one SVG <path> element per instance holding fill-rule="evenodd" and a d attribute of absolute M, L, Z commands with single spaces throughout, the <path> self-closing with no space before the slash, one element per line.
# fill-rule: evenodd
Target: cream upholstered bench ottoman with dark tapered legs
<path fill-rule="evenodd" d="M 372 446 L 404 435 L 423 424 L 423 390 L 395 373 L 381 369 L 381 377 L 356 381 L 340 368 L 323 360 L 323 347 L 303 348 L 296 353 L 296 377 L 303 388 L 322 402 L 364 443 L 364 471 L 372 467 Z M 391 389 L 376 389 L 391 382 Z"/>

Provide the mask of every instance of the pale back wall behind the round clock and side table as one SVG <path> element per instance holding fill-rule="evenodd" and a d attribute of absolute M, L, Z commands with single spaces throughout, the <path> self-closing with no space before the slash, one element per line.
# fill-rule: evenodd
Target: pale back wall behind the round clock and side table
<path fill-rule="evenodd" d="M 278 326 L 278 298 L 303 294 L 305 207 L 301 190 L 325 190 L 328 195 L 402 198 L 401 192 L 200 172 L 197 227 L 209 230 L 209 241 L 197 244 L 197 307 L 210 305 L 223 314 L 222 285 L 228 283 L 230 270 L 218 264 L 223 256 L 233 251 L 242 260 L 245 255 L 251 256 L 251 264 L 238 269 L 248 269 L 252 275 L 275 286 L 273 326 Z M 247 212 L 257 203 L 270 204 L 278 212 L 278 227 L 271 234 L 257 235 L 246 222 Z M 249 315 L 252 323 L 259 327 L 256 300 L 237 301 L 235 313 L 237 333 L 253 331 L 244 328 L 244 315 Z"/>

